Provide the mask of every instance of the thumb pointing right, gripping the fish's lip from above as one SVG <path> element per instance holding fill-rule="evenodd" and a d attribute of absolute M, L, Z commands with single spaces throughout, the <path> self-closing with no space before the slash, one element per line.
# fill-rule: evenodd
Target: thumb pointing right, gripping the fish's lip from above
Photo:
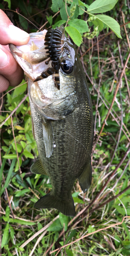
<path fill-rule="evenodd" d="M 15 27 L 2 10 L 0 10 L 0 24 L 0 44 L 20 46 L 28 43 L 30 39 L 29 34 Z"/>

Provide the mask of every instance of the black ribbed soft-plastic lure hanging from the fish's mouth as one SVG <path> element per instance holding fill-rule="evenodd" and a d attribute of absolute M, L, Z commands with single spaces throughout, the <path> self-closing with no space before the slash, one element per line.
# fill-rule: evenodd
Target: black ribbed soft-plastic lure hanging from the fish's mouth
<path fill-rule="evenodd" d="M 40 76 L 38 76 L 34 82 L 39 81 L 41 79 L 47 78 L 50 75 L 54 76 L 54 82 L 57 88 L 60 90 L 60 76 L 59 69 L 62 66 L 60 61 L 60 55 L 62 53 L 61 44 L 62 44 L 62 32 L 59 29 L 49 29 L 45 35 L 45 49 L 48 51 L 47 57 L 49 58 L 46 61 L 46 65 L 51 60 L 52 68 L 48 68 L 45 72 L 42 72 Z"/>

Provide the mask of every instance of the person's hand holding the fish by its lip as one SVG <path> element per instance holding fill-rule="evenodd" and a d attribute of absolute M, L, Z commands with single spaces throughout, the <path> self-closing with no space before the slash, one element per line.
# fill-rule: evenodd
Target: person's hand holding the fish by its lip
<path fill-rule="evenodd" d="M 28 43 L 30 36 L 27 32 L 15 27 L 7 15 L 0 10 L 0 93 L 9 86 L 18 86 L 23 79 L 20 68 L 10 52 L 8 44 L 16 46 Z"/>

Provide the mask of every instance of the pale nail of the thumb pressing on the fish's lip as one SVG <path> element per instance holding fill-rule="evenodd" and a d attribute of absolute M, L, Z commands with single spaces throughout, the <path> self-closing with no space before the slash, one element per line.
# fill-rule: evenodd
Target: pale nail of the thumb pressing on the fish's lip
<path fill-rule="evenodd" d="M 29 38 L 29 34 L 14 25 L 9 26 L 10 35 L 14 40 L 23 40 L 25 38 Z"/>

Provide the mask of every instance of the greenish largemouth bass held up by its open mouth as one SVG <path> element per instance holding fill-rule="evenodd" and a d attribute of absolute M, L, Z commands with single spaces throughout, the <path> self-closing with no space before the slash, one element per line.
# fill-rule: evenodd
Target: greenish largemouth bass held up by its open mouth
<path fill-rule="evenodd" d="M 31 172 L 49 176 L 52 185 L 50 193 L 40 198 L 35 207 L 55 208 L 66 216 L 75 216 L 71 195 L 75 180 L 79 180 L 84 193 L 91 185 L 94 122 L 91 96 L 80 59 L 64 27 L 57 29 L 62 33 L 60 54 L 57 55 L 60 90 L 53 74 L 47 73 L 46 78 L 36 81 L 43 72 L 53 68 L 48 49 L 45 49 L 46 30 L 31 33 L 27 45 L 10 44 L 9 47 L 29 78 L 32 131 L 39 153 Z"/>

